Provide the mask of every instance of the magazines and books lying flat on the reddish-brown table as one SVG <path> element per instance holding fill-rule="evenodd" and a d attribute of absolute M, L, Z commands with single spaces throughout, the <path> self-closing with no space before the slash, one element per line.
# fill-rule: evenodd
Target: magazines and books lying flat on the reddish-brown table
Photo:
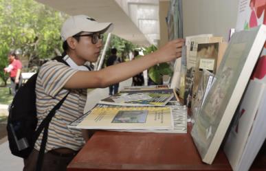
<path fill-rule="evenodd" d="M 125 87 L 100 100 L 69 128 L 145 133 L 187 133 L 187 109 L 173 89 Z"/>

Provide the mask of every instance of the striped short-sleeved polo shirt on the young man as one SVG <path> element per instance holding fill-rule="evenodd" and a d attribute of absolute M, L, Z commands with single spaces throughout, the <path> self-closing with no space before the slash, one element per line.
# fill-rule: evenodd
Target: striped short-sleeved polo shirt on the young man
<path fill-rule="evenodd" d="M 67 80 L 78 71 L 71 67 L 51 60 L 46 62 L 38 72 L 36 80 L 36 110 L 38 126 L 58 102 L 67 95 L 63 89 Z M 87 100 L 87 89 L 71 89 L 65 102 L 56 111 L 49 124 L 45 151 L 56 148 L 79 150 L 85 141 L 80 129 L 67 128 L 67 125 L 83 114 Z M 38 137 L 34 148 L 40 150 L 43 133 Z"/>

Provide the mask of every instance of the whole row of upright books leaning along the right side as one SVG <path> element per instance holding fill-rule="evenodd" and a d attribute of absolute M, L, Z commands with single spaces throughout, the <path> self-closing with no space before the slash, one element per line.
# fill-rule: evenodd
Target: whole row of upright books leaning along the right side
<path fill-rule="evenodd" d="M 265 7 L 240 0 L 229 43 L 212 34 L 186 37 L 174 87 L 191 108 L 191 135 L 205 163 L 223 146 L 234 171 L 249 170 L 265 142 L 266 19 L 254 15 Z"/>

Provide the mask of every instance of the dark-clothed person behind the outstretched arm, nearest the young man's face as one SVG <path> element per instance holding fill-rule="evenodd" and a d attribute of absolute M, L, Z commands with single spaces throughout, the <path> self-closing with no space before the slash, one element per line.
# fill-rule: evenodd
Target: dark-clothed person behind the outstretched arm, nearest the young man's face
<path fill-rule="evenodd" d="M 118 52 L 117 49 L 115 48 L 111 49 L 111 56 L 109 56 L 109 58 L 107 59 L 107 67 L 111 65 L 116 65 L 121 62 L 120 58 L 118 58 L 118 56 L 116 55 L 117 52 Z M 119 87 L 119 82 L 109 86 L 109 95 L 118 93 L 118 87 Z"/>

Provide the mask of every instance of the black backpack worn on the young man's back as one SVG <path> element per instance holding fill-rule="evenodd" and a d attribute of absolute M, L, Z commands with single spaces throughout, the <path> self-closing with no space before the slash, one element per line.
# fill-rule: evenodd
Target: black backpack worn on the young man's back
<path fill-rule="evenodd" d="M 53 59 L 68 65 L 67 62 L 63 60 L 62 56 L 56 56 Z M 37 76 L 38 73 L 35 73 L 14 96 L 8 115 L 7 130 L 9 146 L 12 154 L 26 159 L 30 155 L 30 152 L 32 152 L 36 139 L 38 139 L 38 136 L 44 129 L 41 150 L 39 153 L 39 157 L 41 156 L 40 161 L 42 161 L 42 153 L 44 154 L 45 151 L 49 122 L 54 116 L 56 110 L 63 104 L 65 98 L 67 98 L 68 93 L 65 95 L 65 98 L 60 100 L 60 102 L 54 106 L 54 109 L 49 112 L 47 117 L 45 117 L 43 122 L 41 122 L 41 125 L 36 129 L 38 121 L 36 117 L 35 93 Z"/>

